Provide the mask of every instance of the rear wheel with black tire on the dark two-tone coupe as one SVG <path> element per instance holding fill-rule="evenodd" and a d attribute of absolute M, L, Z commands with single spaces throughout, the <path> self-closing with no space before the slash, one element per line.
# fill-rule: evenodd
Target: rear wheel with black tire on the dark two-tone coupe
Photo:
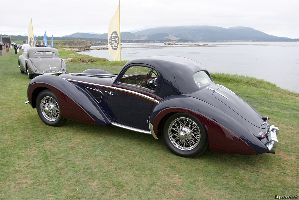
<path fill-rule="evenodd" d="M 186 113 L 176 113 L 165 121 L 162 140 L 171 153 L 186 158 L 197 157 L 208 147 L 205 127 Z"/>

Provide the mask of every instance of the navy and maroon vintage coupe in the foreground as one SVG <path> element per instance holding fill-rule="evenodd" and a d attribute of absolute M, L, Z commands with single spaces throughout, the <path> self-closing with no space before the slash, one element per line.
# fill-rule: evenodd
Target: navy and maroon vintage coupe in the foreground
<path fill-rule="evenodd" d="M 129 61 L 120 73 L 99 69 L 41 75 L 28 100 L 45 124 L 66 119 L 161 136 L 175 155 L 193 158 L 207 147 L 233 154 L 274 153 L 279 129 L 196 61 L 155 56 Z M 27 102 L 25 102 L 27 103 Z"/>

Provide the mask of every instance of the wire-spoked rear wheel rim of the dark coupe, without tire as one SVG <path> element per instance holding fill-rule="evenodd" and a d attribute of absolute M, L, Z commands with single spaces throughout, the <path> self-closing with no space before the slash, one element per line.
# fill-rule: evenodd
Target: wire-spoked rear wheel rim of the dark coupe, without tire
<path fill-rule="evenodd" d="M 176 148 L 187 151 L 199 144 L 200 130 L 191 119 L 177 118 L 169 126 L 168 137 Z"/>

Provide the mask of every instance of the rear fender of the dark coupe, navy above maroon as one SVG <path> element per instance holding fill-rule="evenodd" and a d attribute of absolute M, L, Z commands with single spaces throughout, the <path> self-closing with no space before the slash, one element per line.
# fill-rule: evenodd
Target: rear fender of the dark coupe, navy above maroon
<path fill-rule="evenodd" d="M 183 95 L 164 98 L 154 107 L 149 122 L 153 125 L 156 135 L 161 120 L 175 112 L 193 115 L 202 122 L 208 133 L 209 148 L 212 151 L 249 155 L 267 151 L 262 142 L 233 118 L 208 103 Z"/>

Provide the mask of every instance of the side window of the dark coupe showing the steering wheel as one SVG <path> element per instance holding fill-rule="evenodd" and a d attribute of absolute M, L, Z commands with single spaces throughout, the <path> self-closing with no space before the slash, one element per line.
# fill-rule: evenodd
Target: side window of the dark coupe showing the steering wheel
<path fill-rule="evenodd" d="M 149 67 L 132 66 L 129 67 L 120 83 L 136 85 L 155 91 L 158 82 L 157 72 Z"/>

